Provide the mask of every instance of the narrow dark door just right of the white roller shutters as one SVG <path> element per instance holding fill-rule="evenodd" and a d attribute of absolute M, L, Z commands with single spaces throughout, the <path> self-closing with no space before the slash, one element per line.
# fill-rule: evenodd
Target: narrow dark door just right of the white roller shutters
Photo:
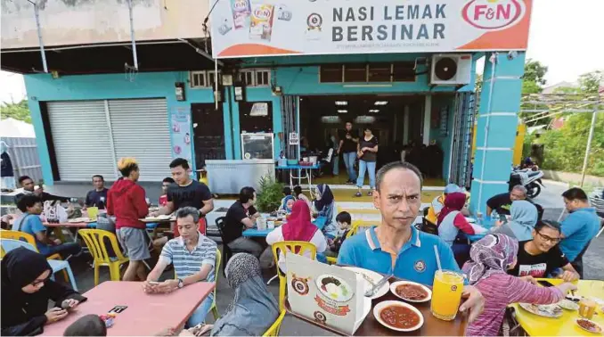
<path fill-rule="evenodd" d="M 203 168 L 206 160 L 224 160 L 224 118 L 222 104 L 192 103 L 195 165 Z"/>

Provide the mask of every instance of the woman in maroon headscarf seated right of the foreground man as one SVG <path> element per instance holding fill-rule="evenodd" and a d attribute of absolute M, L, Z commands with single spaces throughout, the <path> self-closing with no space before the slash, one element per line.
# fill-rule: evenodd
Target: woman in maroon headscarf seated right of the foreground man
<path fill-rule="evenodd" d="M 469 242 L 458 235 L 460 231 L 465 234 L 485 233 L 486 228 L 470 224 L 461 210 L 466 203 L 466 194 L 461 192 L 449 193 L 445 197 L 445 207 L 438 214 L 437 226 L 438 236 L 451 246 L 453 256 L 457 264 L 463 263 L 469 258 Z"/>

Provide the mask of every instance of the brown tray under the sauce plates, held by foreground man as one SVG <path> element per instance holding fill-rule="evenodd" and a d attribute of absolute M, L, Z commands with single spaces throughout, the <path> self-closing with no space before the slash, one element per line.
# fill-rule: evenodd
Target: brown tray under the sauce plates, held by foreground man
<path fill-rule="evenodd" d="M 396 282 L 397 279 L 391 278 L 390 281 L 391 283 Z M 431 289 L 432 287 L 429 288 Z M 420 329 L 410 333 L 402 333 L 388 329 L 386 326 L 381 325 L 380 322 L 375 319 L 375 316 L 373 316 L 373 308 L 384 300 L 404 301 L 396 297 L 392 292 L 388 292 L 379 299 L 371 300 L 371 311 L 365 317 L 363 324 L 356 330 L 355 336 L 463 336 L 466 331 L 467 317 L 465 314 L 459 313 L 453 321 L 440 320 L 437 317 L 432 316 L 432 313 L 430 312 L 430 301 L 424 303 L 407 303 L 420 310 L 421 315 L 424 317 L 424 324 L 421 325 Z M 289 303 L 286 303 L 286 305 L 289 307 Z M 316 325 L 313 321 L 306 320 L 305 317 L 300 318 Z M 316 326 L 322 327 L 321 325 Z"/>

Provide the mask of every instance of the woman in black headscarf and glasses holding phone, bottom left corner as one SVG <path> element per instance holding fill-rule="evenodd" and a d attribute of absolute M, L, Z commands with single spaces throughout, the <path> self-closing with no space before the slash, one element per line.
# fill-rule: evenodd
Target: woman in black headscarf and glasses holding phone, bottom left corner
<path fill-rule="evenodd" d="M 68 315 L 65 308 L 75 308 L 86 297 L 50 280 L 53 268 L 44 255 L 17 248 L 0 262 L 2 274 L 2 313 L 0 325 L 4 336 L 36 335 L 44 325 Z M 48 308 L 48 300 L 55 307 Z"/>

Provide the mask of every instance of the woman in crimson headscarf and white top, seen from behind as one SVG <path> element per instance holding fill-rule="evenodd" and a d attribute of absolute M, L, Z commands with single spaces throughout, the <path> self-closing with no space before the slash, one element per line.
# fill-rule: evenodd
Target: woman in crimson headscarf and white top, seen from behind
<path fill-rule="evenodd" d="M 322 253 L 327 249 L 327 241 L 317 226 L 311 222 L 310 209 L 305 201 L 298 200 L 294 203 L 288 221 L 280 227 L 275 228 L 266 235 L 266 243 L 273 245 L 275 242 L 283 241 L 306 241 L 311 242 L 316 247 L 317 253 Z M 307 254 L 309 254 L 306 251 Z M 306 255 L 310 258 L 310 255 Z M 285 273 L 285 259 L 279 256 L 279 268 Z"/>

